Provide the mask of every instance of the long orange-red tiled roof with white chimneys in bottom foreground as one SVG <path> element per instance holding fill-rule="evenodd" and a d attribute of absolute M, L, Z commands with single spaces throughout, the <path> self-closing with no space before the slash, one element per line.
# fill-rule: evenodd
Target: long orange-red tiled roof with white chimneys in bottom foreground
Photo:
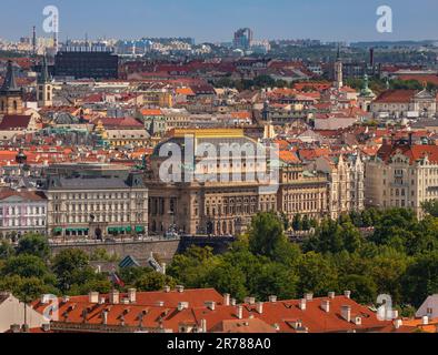
<path fill-rule="evenodd" d="M 125 296 L 120 295 L 120 300 Z M 102 325 L 103 312 L 107 312 L 107 325 L 120 331 L 123 327 L 125 331 L 126 327 L 138 329 L 141 324 L 152 331 L 161 328 L 178 333 L 183 325 L 200 328 L 201 321 L 206 321 L 207 332 L 263 333 L 297 333 L 302 331 L 301 327 L 309 333 L 379 332 L 391 324 L 378 321 L 372 311 L 346 296 L 312 298 L 306 302 L 305 310 L 299 307 L 300 301 L 297 300 L 267 302 L 260 304 L 261 307 L 259 304 L 225 305 L 222 300 L 215 290 L 137 293 L 136 302 L 118 304 L 109 303 L 107 296 L 104 303 L 90 303 L 88 296 L 71 297 L 68 302 L 59 300 L 59 320 L 54 324 L 87 332 L 89 327 Z M 158 304 L 159 301 L 165 303 Z M 207 302 L 216 304 L 211 307 Z M 322 310 L 322 302 L 329 303 L 328 311 Z M 32 304 L 40 313 L 49 305 L 39 300 Z M 349 321 L 342 316 L 345 306 L 350 308 Z M 238 307 L 241 307 L 240 318 Z"/>

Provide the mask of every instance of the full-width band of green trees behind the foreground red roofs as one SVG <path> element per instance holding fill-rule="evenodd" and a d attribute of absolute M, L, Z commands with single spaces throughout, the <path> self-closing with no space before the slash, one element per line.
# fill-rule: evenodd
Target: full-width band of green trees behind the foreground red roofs
<path fill-rule="evenodd" d="M 421 221 L 408 210 L 367 210 L 338 221 L 308 221 L 311 234 L 302 244 L 290 243 L 285 229 L 302 230 L 303 219 L 296 216 L 289 225 L 282 215 L 260 213 L 227 253 L 215 255 L 209 247 L 191 247 L 175 256 L 167 275 L 149 267 L 123 268 L 119 276 L 125 287 L 215 287 L 238 301 L 247 296 L 267 300 L 269 295 L 298 298 L 307 292 L 325 295 L 350 290 L 352 297 L 364 304 L 374 304 L 379 294 L 390 294 L 404 314 L 410 315 L 412 306 L 438 293 L 435 210 L 435 204 L 425 206 L 428 215 Z M 49 257 L 47 241 L 38 235 L 21 239 L 17 248 L 1 242 L 0 290 L 12 291 L 26 301 L 42 293 L 104 293 L 113 285 L 108 273 L 97 273 L 92 267 L 97 260 L 115 261 L 103 250 L 91 257 L 79 250 Z"/>

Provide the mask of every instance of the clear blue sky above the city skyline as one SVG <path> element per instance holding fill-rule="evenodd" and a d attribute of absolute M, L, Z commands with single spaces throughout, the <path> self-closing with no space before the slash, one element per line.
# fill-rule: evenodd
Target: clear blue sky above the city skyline
<path fill-rule="evenodd" d="M 43 33 L 46 6 L 60 12 L 60 39 L 192 37 L 231 41 L 249 27 L 256 39 L 322 41 L 438 40 L 438 0 L 1 0 L 0 38 Z M 377 8 L 392 9 L 392 33 L 376 29 Z"/>

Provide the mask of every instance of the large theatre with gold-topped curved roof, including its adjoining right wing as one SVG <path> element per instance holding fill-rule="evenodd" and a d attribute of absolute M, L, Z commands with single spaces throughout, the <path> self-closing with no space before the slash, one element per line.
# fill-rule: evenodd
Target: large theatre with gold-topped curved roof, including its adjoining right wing
<path fill-rule="evenodd" d="M 211 143 L 216 149 L 231 144 L 233 152 L 258 142 L 243 135 L 243 130 L 177 130 L 165 142 L 182 146 L 186 135 L 193 139 L 193 145 Z M 163 182 L 162 171 L 168 155 L 159 156 L 163 144 L 156 148 L 148 172 L 149 227 L 151 233 L 177 230 L 186 234 L 236 235 L 243 233 L 259 212 L 283 212 L 290 221 L 299 213 L 320 219 L 327 211 L 327 179 L 321 174 L 303 171 L 299 161 L 288 161 L 288 156 L 277 160 L 267 153 L 265 161 L 245 155 L 236 162 L 192 158 L 192 166 L 182 166 L 180 182 Z M 185 156 L 186 151 L 181 156 Z M 276 165 L 278 163 L 278 165 Z M 169 168 L 169 166 L 167 166 Z M 172 166 L 175 169 L 175 166 Z M 176 168 L 178 171 L 178 166 Z M 176 171 L 173 170 L 173 173 Z M 266 172 L 268 179 L 257 179 Z M 196 176 L 218 176 L 216 181 L 187 181 L 187 174 Z M 233 179 L 236 174 L 240 179 Z M 228 176 L 226 181 L 222 179 Z M 256 176 L 256 179 L 248 179 Z"/>

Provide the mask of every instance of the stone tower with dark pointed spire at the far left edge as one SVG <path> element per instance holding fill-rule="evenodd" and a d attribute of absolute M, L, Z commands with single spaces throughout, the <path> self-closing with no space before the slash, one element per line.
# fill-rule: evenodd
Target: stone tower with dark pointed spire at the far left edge
<path fill-rule="evenodd" d="M 22 91 L 18 88 L 12 61 L 8 61 L 4 82 L 0 88 L 0 115 L 22 114 Z"/>

